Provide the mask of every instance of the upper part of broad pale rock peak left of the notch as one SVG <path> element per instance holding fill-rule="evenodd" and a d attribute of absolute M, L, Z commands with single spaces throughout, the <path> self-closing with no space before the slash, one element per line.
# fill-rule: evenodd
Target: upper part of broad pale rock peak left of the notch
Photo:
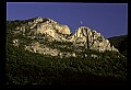
<path fill-rule="evenodd" d="M 29 32 L 34 34 L 44 34 L 50 32 L 58 32 L 61 34 L 70 34 L 70 29 L 68 25 L 62 25 L 57 23 L 55 20 L 49 18 L 34 18 L 29 19 L 26 24 L 17 26 L 15 30 L 21 30 L 23 33 Z M 51 35 L 51 34 L 50 34 Z"/>

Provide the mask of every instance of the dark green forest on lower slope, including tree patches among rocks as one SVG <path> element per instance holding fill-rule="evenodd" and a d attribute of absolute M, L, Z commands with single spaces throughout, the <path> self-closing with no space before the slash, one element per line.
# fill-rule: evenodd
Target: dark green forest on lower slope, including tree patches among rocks
<path fill-rule="evenodd" d="M 24 50 L 22 46 L 15 47 L 12 45 L 15 37 L 19 35 L 15 36 L 10 27 L 7 29 L 5 77 L 8 85 L 126 85 L 127 58 L 120 53 L 83 49 L 76 53 L 78 57 L 60 58 L 31 53 Z M 21 43 L 23 45 L 32 41 L 23 35 L 20 38 L 24 41 Z M 70 42 L 53 42 L 50 47 L 62 44 L 72 45 Z M 92 55 L 97 55 L 97 57 L 94 58 Z"/>

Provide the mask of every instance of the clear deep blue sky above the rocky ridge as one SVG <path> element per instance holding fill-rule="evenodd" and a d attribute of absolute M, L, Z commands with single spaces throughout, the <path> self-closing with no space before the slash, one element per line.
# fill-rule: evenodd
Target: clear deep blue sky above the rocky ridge
<path fill-rule="evenodd" d="M 106 38 L 128 34 L 128 3 L 7 2 L 7 20 L 35 16 L 67 24 L 72 33 L 84 25 Z"/>

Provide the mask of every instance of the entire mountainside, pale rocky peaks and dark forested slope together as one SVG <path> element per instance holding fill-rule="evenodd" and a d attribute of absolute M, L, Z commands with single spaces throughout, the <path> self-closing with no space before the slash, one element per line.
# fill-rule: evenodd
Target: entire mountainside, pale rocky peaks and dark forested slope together
<path fill-rule="evenodd" d="M 43 19 L 44 24 L 48 20 Z M 40 18 L 7 22 L 8 85 L 126 85 L 127 58 L 100 34 L 86 26 L 62 33 L 51 23 L 43 31 L 38 23 Z M 104 44 L 104 50 L 97 50 L 97 44 Z"/>

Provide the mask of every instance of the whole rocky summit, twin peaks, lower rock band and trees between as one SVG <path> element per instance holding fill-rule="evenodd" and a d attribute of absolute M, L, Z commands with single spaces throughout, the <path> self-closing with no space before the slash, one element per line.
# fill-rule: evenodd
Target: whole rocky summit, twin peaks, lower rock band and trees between
<path fill-rule="evenodd" d="M 14 46 L 23 46 L 24 49 L 44 55 L 69 57 L 76 56 L 76 52 L 83 48 L 98 52 L 115 50 L 100 33 L 87 26 L 80 26 L 73 34 L 68 25 L 59 24 L 49 18 L 33 18 L 15 26 Z"/>

